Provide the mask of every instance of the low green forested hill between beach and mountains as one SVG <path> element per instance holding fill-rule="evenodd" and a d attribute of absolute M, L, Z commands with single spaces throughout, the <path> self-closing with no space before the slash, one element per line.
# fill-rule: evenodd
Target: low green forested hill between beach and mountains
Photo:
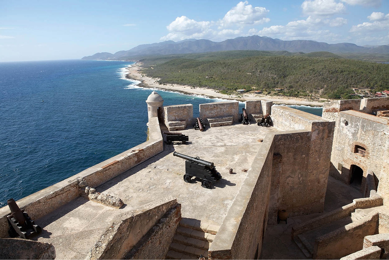
<path fill-rule="evenodd" d="M 160 84 L 223 92 L 281 88 L 286 96 L 347 98 L 352 88 L 381 91 L 389 86 L 389 64 L 343 59 L 329 52 L 224 51 L 154 56 L 140 61 L 143 72 L 160 78 Z"/>

